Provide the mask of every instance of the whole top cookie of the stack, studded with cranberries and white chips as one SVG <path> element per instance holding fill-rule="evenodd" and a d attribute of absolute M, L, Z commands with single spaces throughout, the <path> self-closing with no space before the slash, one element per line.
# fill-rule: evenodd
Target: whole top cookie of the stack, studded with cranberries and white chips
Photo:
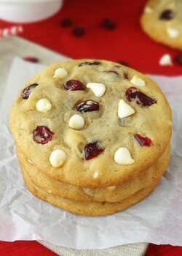
<path fill-rule="evenodd" d="M 108 187 L 162 156 L 171 112 L 156 83 L 111 61 L 53 64 L 25 84 L 9 118 L 17 146 L 48 176 Z"/>

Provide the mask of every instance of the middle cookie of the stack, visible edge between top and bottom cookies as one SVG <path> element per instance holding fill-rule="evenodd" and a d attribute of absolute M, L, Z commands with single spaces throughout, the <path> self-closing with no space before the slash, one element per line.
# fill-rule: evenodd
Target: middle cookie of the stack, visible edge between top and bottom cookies
<path fill-rule="evenodd" d="M 70 200 L 87 201 L 87 202 L 117 202 L 130 197 L 139 190 L 150 187 L 155 180 L 158 180 L 159 173 L 165 170 L 169 161 L 170 147 L 159 158 L 157 163 L 149 167 L 140 176 L 135 177 L 132 181 L 124 182 L 121 186 L 99 187 L 96 189 L 79 188 L 44 175 L 38 168 L 25 159 L 23 152 L 17 148 L 17 157 L 20 162 L 21 169 L 25 170 L 31 178 L 33 184 L 52 195 L 58 195 Z"/>

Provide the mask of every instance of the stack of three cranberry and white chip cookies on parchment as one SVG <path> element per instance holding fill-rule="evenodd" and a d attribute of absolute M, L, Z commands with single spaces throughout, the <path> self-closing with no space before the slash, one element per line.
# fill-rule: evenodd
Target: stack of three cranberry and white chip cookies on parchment
<path fill-rule="evenodd" d="M 157 186 L 171 112 L 159 87 L 111 61 L 53 64 L 25 84 L 9 118 L 25 184 L 75 214 L 113 214 Z"/>

